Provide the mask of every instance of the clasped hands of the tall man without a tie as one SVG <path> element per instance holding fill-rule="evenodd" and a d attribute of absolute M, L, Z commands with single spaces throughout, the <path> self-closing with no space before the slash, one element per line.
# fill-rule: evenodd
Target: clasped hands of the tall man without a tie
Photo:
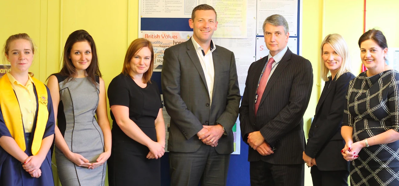
<path fill-rule="evenodd" d="M 203 125 L 203 128 L 197 133 L 197 136 L 202 143 L 210 145 L 211 147 L 216 147 L 223 132 L 223 126 L 221 124 L 213 126 Z"/>

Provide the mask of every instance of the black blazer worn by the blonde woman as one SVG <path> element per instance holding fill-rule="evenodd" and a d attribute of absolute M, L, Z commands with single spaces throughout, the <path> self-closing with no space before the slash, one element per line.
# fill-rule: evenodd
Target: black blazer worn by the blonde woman
<path fill-rule="evenodd" d="M 316 107 L 316 114 L 309 130 L 305 154 L 316 157 L 320 171 L 349 170 L 349 163 L 342 157 L 345 141 L 341 136 L 342 117 L 349 81 L 355 76 L 346 72 L 326 81 Z"/>

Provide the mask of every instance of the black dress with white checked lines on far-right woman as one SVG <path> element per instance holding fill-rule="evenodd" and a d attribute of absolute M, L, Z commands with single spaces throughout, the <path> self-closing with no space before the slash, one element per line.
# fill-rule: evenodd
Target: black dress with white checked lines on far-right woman
<path fill-rule="evenodd" d="M 353 127 L 353 141 L 399 130 L 399 72 L 366 73 L 350 81 L 344 126 Z M 399 186 L 399 141 L 365 147 L 350 168 L 351 186 Z"/>

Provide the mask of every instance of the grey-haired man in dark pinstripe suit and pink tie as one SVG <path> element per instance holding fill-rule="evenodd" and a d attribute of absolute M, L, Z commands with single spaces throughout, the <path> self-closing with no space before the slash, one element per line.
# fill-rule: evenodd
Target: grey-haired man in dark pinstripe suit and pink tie
<path fill-rule="evenodd" d="M 288 23 L 271 15 L 263 23 L 269 56 L 251 64 L 239 110 L 251 186 L 303 186 L 303 114 L 312 92 L 309 60 L 287 47 Z"/>

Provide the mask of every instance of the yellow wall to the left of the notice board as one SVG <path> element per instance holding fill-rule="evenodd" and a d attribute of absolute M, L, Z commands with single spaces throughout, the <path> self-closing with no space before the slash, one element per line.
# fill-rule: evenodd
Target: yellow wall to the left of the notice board
<path fill-rule="evenodd" d="M 43 82 L 59 72 L 68 35 L 84 29 L 96 42 L 107 89 L 122 70 L 128 45 L 138 37 L 138 0 L 0 0 L 0 17 L 2 47 L 16 33 L 28 33 L 34 40 L 37 50 L 30 72 Z"/>

